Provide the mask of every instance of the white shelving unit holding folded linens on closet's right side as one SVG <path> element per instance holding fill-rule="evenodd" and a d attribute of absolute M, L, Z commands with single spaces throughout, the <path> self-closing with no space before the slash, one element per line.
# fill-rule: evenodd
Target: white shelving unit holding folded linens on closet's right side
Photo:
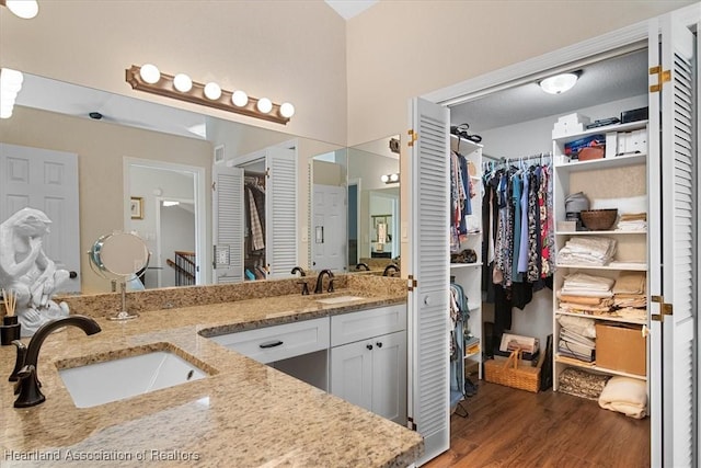
<path fill-rule="evenodd" d="M 570 141 L 583 138 L 588 135 L 607 134 L 616 132 L 619 136 L 625 132 L 647 128 L 647 121 L 633 122 L 621 125 L 610 125 L 606 127 L 593 128 L 576 135 L 558 138 L 553 140 L 553 155 L 559 160 L 559 155 L 564 155 L 564 145 Z M 612 158 L 602 158 L 589 161 L 571 161 L 555 164 L 554 175 L 554 213 L 556 221 L 565 220 L 565 197 L 572 193 L 584 192 L 589 202 L 595 198 L 623 198 L 646 194 L 647 186 L 647 155 L 646 151 L 640 153 L 621 155 Z M 611 206 L 614 207 L 614 206 Z M 584 273 L 597 276 L 616 278 L 621 272 L 636 271 L 647 272 L 648 260 L 647 232 L 644 230 L 599 230 L 599 231 L 556 231 L 555 248 L 559 252 L 565 242 L 577 236 L 598 236 L 612 238 L 617 241 L 617 252 L 611 262 L 606 265 L 585 264 L 558 264 L 554 276 L 553 290 L 553 389 L 558 390 L 559 376 L 566 367 L 579 367 L 586 370 L 633 377 L 647 380 L 646 375 L 629 374 L 625 372 L 597 366 L 596 362 L 586 363 L 573 357 L 563 356 L 558 353 L 559 335 L 561 327 L 558 316 L 573 316 L 594 319 L 595 321 L 606 321 L 614 323 L 628 323 L 644 327 L 648 323 L 648 313 L 644 318 L 640 317 L 612 317 L 573 313 L 559 310 L 559 299 L 556 292 L 562 288 L 564 277 L 571 273 L 583 271 Z M 648 282 L 650 279 L 647 279 Z M 650 298 L 648 298 L 650 299 Z M 642 332 L 642 330 L 641 330 Z"/>

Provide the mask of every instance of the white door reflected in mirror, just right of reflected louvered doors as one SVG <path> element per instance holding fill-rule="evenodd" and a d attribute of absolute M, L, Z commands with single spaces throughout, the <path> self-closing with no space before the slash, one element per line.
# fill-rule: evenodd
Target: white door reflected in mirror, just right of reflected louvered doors
<path fill-rule="evenodd" d="M 314 184 L 311 219 L 313 270 L 346 267 L 346 187 Z"/>

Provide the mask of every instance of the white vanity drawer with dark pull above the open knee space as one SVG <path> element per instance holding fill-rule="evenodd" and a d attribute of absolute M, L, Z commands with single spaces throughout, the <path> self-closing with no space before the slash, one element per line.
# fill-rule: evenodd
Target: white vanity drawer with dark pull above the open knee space
<path fill-rule="evenodd" d="M 329 347 L 329 319 L 313 319 L 238 333 L 211 340 L 260 363 L 272 363 Z"/>

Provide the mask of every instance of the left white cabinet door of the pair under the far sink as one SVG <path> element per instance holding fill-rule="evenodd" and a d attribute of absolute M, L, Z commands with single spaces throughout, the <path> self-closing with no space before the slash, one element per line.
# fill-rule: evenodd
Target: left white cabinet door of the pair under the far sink
<path fill-rule="evenodd" d="M 349 403 L 372 411 L 371 340 L 331 350 L 331 392 Z"/>

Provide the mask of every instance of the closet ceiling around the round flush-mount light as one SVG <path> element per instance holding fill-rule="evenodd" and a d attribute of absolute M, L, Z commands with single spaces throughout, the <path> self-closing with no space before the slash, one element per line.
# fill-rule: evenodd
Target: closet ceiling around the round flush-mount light
<path fill-rule="evenodd" d="M 647 92 L 646 49 L 574 70 L 582 70 L 582 76 L 565 93 L 548 94 L 533 80 L 451 106 L 450 121 L 468 123 L 470 133 L 479 133 Z"/>

